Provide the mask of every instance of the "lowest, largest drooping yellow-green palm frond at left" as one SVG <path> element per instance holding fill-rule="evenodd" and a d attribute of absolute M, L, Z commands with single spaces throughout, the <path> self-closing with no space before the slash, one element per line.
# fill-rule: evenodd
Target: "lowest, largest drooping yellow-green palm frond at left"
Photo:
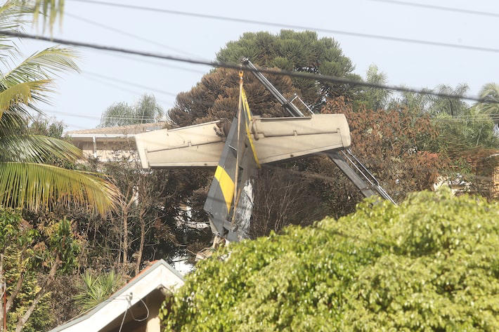
<path fill-rule="evenodd" d="M 0 162 L 0 205 L 32 211 L 63 206 L 88 206 L 101 215 L 115 208 L 119 190 L 96 173 L 57 166 Z"/>

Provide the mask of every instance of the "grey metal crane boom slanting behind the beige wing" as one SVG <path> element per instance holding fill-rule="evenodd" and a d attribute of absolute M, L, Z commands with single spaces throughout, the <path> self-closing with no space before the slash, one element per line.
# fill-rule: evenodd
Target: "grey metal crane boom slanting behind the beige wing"
<path fill-rule="evenodd" d="M 271 84 L 270 81 L 262 74 L 257 67 L 255 67 L 252 62 L 248 59 L 242 60 L 243 67 L 250 69 L 250 72 L 256 77 L 261 84 L 280 102 L 280 105 L 287 110 L 292 117 L 305 117 L 305 115 L 298 109 L 293 101 L 298 97 L 295 96 L 292 100 L 287 100 L 285 96 L 278 91 L 278 89 Z M 300 98 L 300 101 L 303 102 Z M 312 110 L 303 102 L 304 106 L 313 113 Z M 368 168 L 366 168 L 360 160 L 351 152 L 350 149 L 346 150 L 330 150 L 325 152 L 325 154 L 338 166 L 338 168 L 346 175 L 351 182 L 361 191 L 364 197 L 371 197 L 374 195 L 379 195 L 380 197 L 391 201 L 391 203 L 396 204 L 395 201 L 390 197 L 390 195 L 383 189 L 380 182 L 375 178 L 375 176 L 370 173 Z"/>

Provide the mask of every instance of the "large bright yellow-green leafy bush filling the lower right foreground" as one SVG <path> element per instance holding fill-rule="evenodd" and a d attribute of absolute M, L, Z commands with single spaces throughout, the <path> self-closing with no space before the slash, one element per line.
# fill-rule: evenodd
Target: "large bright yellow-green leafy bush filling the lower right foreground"
<path fill-rule="evenodd" d="M 497 202 L 449 192 L 365 200 L 219 251 L 162 321 L 177 332 L 499 331 L 498 221 Z"/>

